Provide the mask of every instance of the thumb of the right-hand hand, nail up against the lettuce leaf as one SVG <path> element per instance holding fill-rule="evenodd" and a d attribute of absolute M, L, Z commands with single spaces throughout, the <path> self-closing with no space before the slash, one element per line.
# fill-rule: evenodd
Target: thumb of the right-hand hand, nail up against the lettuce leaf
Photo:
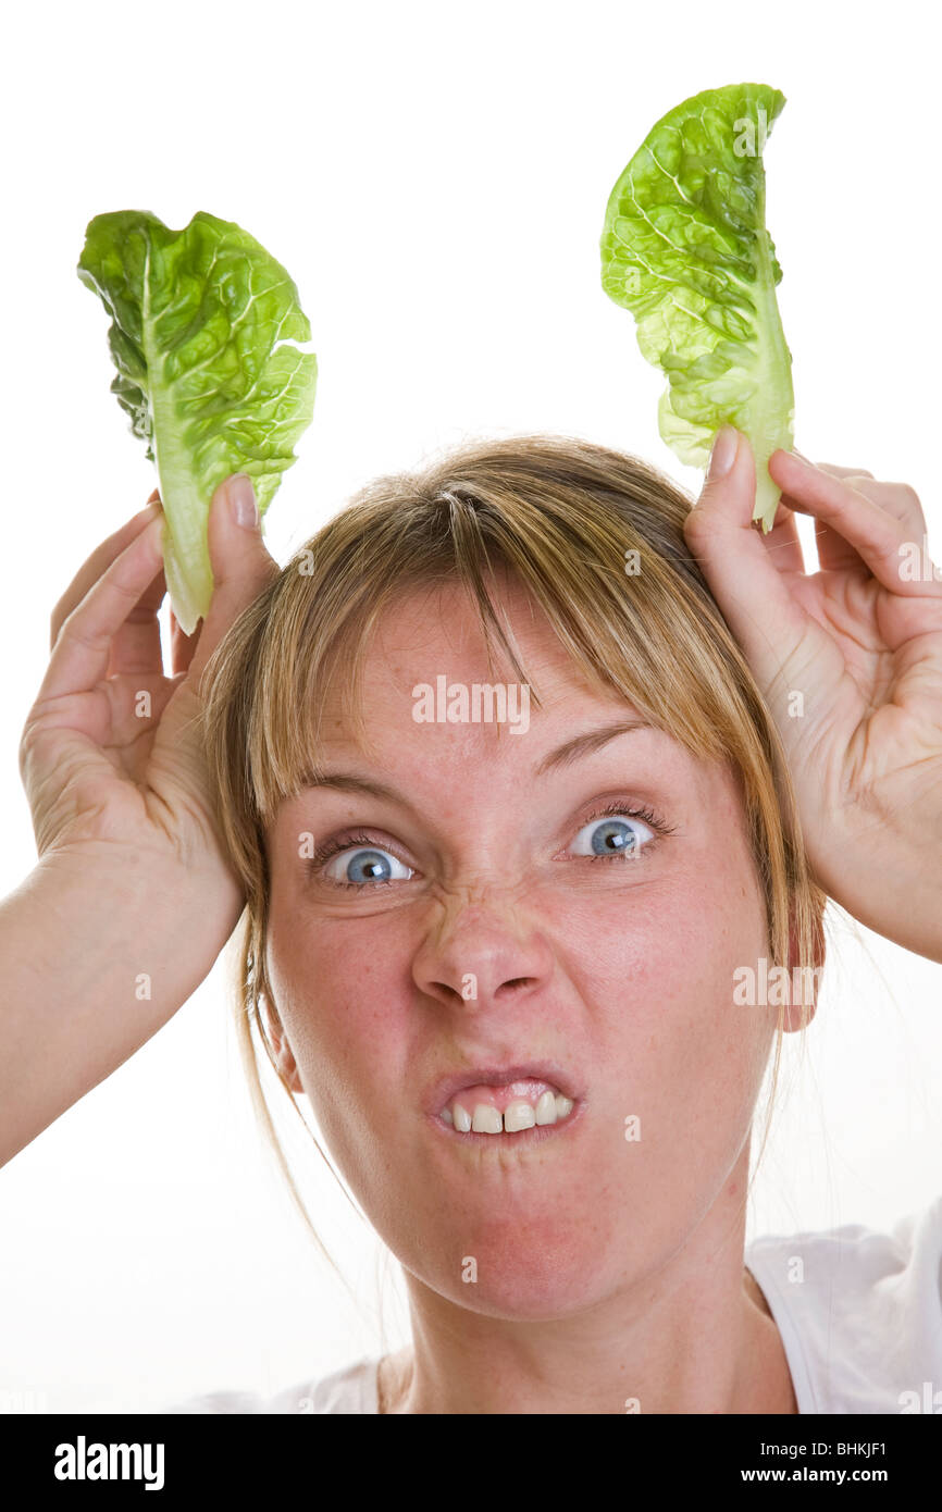
<path fill-rule="evenodd" d="M 773 555 L 753 529 L 756 464 L 745 435 L 724 425 L 697 503 L 683 522 L 689 546 L 759 685 L 770 686 L 807 626 Z"/>

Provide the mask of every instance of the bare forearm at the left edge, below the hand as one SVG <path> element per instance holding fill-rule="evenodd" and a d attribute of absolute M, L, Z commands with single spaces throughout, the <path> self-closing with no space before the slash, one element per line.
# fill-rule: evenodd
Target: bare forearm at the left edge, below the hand
<path fill-rule="evenodd" d="M 42 856 L 0 904 L 0 1164 L 172 1018 L 240 909 L 228 872 Z"/>

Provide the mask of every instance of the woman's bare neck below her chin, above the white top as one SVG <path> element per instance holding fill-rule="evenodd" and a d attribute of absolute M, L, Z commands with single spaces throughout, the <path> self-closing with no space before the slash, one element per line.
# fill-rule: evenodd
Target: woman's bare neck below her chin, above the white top
<path fill-rule="evenodd" d="M 779 1331 L 742 1266 L 744 1228 L 741 1199 L 714 1208 L 667 1261 L 550 1320 L 475 1312 L 407 1273 L 413 1347 L 384 1362 L 380 1409 L 797 1412 Z"/>

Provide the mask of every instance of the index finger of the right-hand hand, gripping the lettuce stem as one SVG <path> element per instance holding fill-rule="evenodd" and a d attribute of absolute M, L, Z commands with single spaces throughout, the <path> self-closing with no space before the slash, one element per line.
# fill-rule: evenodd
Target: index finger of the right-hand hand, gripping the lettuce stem
<path fill-rule="evenodd" d="M 835 478 L 785 451 L 773 452 L 768 470 L 783 491 L 807 505 L 821 525 L 835 531 L 860 556 L 885 588 L 903 594 L 924 593 L 924 587 L 900 573 L 900 547 L 907 540 L 903 522 L 868 497 L 862 491 L 863 482 L 859 488 L 853 487 L 847 479 Z"/>

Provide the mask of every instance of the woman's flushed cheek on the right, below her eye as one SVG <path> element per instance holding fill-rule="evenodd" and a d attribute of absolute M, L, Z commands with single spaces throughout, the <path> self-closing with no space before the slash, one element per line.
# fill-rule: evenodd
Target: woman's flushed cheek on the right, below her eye
<path fill-rule="evenodd" d="M 596 1016 L 623 1114 L 661 1129 L 665 1145 L 718 1151 L 741 1139 L 774 1028 L 774 1013 L 733 1002 L 736 969 L 767 953 L 748 860 L 693 856 L 670 880 L 591 900 L 547 894 L 540 916 Z"/>

